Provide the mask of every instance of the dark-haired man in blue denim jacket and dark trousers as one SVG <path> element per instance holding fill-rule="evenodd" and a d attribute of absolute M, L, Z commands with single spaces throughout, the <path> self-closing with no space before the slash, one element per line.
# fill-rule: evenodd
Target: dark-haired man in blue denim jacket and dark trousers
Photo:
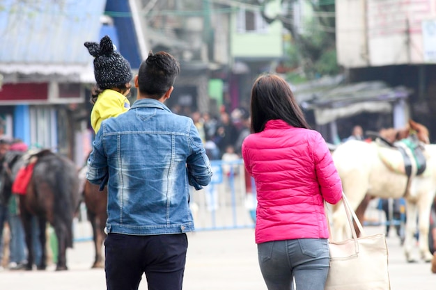
<path fill-rule="evenodd" d="M 180 71 L 170 54 L 150 51 L 134 79 L 137 101 L 102 122 L 88 159 L 87 179 L 109 174 L 105 271 L 107 289 L 180 290 L 194 230 L 189 184 L 209 184 L 210 161 L 192 119 L 164 105 Z"/>

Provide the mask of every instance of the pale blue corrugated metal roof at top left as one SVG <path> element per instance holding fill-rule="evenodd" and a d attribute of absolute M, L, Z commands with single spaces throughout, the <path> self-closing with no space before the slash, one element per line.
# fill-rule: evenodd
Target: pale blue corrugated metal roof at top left
<path fill-rule="evenodd" d="M 79 72 L 90 63 L 84 42 L 98 41 L 106 0 L 3 0 L 0 72 Z"/>

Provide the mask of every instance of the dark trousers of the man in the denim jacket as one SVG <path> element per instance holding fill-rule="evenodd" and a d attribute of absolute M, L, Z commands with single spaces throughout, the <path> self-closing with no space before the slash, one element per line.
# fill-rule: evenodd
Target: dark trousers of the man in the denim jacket
<path fill-rule="evenodd" d="M 107 290 L 137 290 L 143 273 L 148 290 L 181 290 L 186 234 L 109 234 L 104 241 Z"/>

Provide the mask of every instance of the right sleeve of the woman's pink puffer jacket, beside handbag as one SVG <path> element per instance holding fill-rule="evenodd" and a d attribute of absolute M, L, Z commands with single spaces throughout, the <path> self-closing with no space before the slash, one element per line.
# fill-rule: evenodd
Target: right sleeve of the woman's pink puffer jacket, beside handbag
<path fill-rule="evenodd" d="M 313 142 L 315 170 L 322 198 L 330 204 L 336 204 L 342 198 L 342 182 L 334 165 L 332 154 L 322 138 L 316 134 Z"/>

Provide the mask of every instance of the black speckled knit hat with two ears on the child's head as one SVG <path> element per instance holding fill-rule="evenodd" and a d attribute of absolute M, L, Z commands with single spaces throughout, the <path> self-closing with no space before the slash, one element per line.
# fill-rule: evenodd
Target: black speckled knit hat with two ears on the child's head
<path fill-rule="evenodd" d="M 94 56 L 94 76 L 100 89 L 114 88 L 129 83 L 132 78 L 130 63 L 115 50 L 109 36 L 97 42 L 85 42 L 89 54 Z"/>

